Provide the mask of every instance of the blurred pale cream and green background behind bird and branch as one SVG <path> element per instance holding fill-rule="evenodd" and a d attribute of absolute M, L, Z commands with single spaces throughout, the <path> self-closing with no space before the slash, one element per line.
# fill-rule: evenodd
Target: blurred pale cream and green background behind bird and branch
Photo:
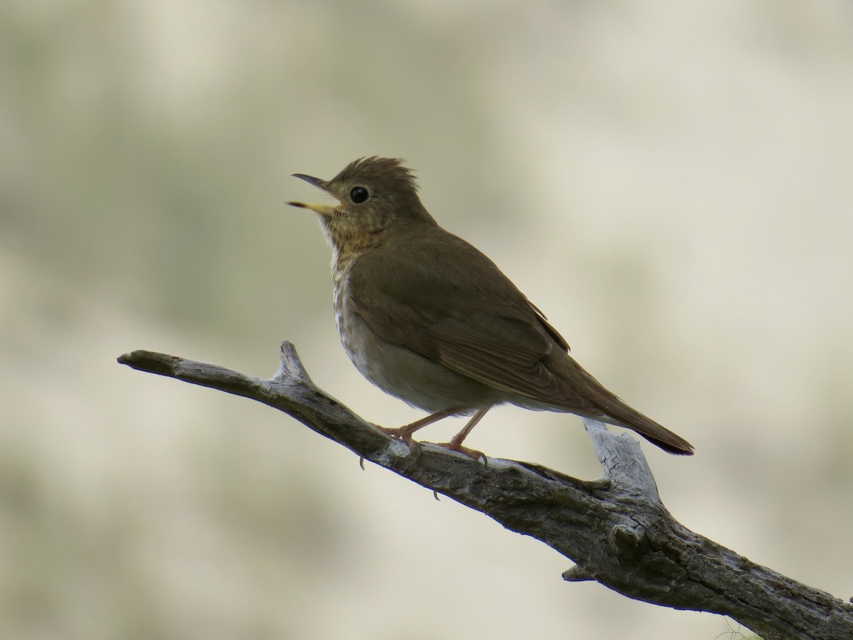
<path fill-rule="evenodd" d="M 32 2 L 0 9 L 0 636 L 714 638 L 246 399 L 281 340 L 368 420 L 288 200 L 402 157 L 607 387 L 676 519 L 853 595 L 853 5 Z M 427 428 L 447 439 L 452 421 Z M 582 478 L 579 418 L 468 444 Z M 732 623 L 732 628 L 737 625 Z"/>

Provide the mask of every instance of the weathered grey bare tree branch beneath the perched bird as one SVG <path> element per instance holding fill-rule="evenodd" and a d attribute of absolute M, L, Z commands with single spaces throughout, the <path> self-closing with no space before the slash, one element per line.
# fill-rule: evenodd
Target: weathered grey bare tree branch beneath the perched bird
<path fill-rule="evenodd" d="M 134 369 L 269 404 L 358 456 L 537 538 L 576 565 L 569 581 L 597 580 L 665 607 L 728 615 L 765 640 L 850 640 L 853 605 L 762 567 L 682 527 L 661 502 L 640 446 L 584 421 L 605 476 L 577 480 L 536 464 L 488 464 L 392 439 L 318 389 L 293 345 L 270 379 L 163 353 L 119 358 Z"/>

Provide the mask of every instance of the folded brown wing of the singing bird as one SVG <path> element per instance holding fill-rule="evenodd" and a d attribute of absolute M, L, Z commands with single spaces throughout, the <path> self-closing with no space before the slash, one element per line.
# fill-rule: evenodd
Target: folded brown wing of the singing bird
<path fill-rule="evenodd" d="M 368 327 L 502 391 L 601 416 L 548 369 L 548 356 L 568 345 L 542 313 L 483 253 L 443 230 L 432 234 L 409 239 L 405 251 L 380 247 L 357 259 L 350 290 Z M 386 252 L 394 252 L 393 271 Z"/>

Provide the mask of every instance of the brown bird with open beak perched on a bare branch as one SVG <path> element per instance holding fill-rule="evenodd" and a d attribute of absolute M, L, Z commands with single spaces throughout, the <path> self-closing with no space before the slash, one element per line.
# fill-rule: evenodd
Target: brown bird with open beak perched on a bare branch
<path fill-rule="evenodd" d="M 316 212 L 334 256 L 340 340 L 377 387 L 431 415 L 386 433 L 412 441 L 447 416 L 472 416 L 444 446 L 462 446 L 496 404 L 575 413 L 633 429 L 665 451 L 693 445 L 631 409 L 569 355 L 542 311 L 485 254 L 445 231 L 401 160 L 363 158 L 331 180 L 294 173 L 334 195 Z"/>

